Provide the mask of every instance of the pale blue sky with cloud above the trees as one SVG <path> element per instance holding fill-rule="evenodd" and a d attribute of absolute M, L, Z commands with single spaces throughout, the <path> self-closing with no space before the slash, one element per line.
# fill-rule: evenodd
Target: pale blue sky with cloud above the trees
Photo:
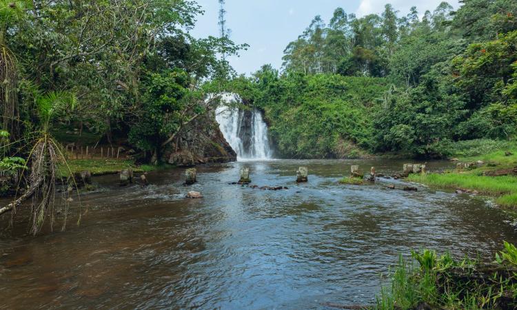
<path fill-rule="evenodd" d="M 227 28 L 232 30 L 230 39 L 235 43 L 250 45 L 241 51 L 239 57 L 232 56 L 229 61 L 239 74 L 250 74 L 264 64 L 281 68 L 283 50 L 294 41 L 310 24 L 316 15 L 325 22 L 330 21 L 332 13 L 341 7 L 347 13 L 358 17 L 383 12 L 386 3 L 405 16 L 409 8 L 416 6 L 418 12 L 431 12 L 443 0 L 226 0 Z M 198 0 L 205 14 L 197 19 L 194 37 L 219 36 L 217 25 L 219 3 L 217 0 Z M 448 1 L 454 9 L 458 0 Z"/>

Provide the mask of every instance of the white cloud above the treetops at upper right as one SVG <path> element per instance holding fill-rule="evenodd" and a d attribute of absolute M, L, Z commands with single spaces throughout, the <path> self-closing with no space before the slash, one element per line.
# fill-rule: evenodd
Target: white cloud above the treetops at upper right
<path fill-rule="evenodd" d="M 412 6 L 416 6 L 416 9 L 420 15 L 423 15 L 426 10 L 433 12 L 442 1 L 443 0 L 361 0 L 361 3 L 359 3 L 359 7 L 356 10 L 356 15 L 358 17 L 363 17 L 367 14 L 382 13 L 386 3 L 391 3 L 393 8 L 399 11 L 399 17 L 405 16 L 407 13 L 409 13 L 409 9 Z M 447 2 L 451 4 L 454 9 L 458 9 L 458 0 L 450 0 Z"/>

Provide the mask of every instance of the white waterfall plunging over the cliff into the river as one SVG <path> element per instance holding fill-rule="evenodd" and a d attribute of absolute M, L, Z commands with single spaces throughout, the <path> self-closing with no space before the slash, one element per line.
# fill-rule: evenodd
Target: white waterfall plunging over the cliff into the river
<path fill-rule="evenodd" d="M 223 103 L 241 101 L 236 94 L 225 94 Z M 267 125 L 258 109 L 239 110 L 221 105 L 216 110 L 221 132 L 237 153 L 237 160 L 270 159 L 272 152 L 267 138 Z"/>

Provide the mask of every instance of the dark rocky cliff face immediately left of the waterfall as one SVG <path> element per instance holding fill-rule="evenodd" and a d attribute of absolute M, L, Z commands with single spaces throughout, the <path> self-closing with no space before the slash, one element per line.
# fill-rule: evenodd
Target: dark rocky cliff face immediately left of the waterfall
<path fill-rule="evenodd" d="M 185 127 L 176 141 L 162 150 L 161 157 L 162 161 L 178 167 L 237 160 L 237 154 L 219 130 L 214 112 Z"/>

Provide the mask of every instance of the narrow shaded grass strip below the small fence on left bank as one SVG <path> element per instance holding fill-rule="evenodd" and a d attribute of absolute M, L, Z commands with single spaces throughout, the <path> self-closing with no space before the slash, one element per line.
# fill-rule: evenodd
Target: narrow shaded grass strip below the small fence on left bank
<path fill-rule="evenodd" d="M 68 165 L 68 167 L 66 167 Z M 159 169 L 168 169 L 172 165 L 135 165 L 133 161 L 116 160 L 116 159 L 72 159 L 68 160 L 66 165 L 61 165 L 63 174 L 68 175 L 70 172 L 81 172 L 89 170 L 93 176 L 102 176 L 106 174 L 117 174 L 123 169 L 131 168 L 134 172 L 150 172 Z M 70 168 L 70 170 L 68 169 Z"/>

